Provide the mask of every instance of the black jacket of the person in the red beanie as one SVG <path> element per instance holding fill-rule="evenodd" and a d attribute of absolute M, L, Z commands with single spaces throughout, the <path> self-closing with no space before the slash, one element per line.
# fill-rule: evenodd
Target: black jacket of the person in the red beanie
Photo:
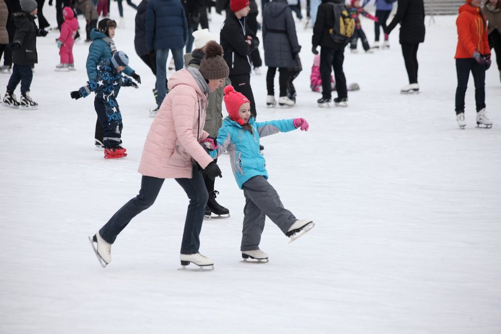
<path fill-rule="evenodd" d="M 251 72 L 249 56 L 252 48 L 245 41 L 247 35 L 259 41 L 245 18 L 238 20 L 233 12 L 228 13 L 219 35 L 219 44 L 223 49 L 222 57 L 228 64 L 230 77 Z"/>

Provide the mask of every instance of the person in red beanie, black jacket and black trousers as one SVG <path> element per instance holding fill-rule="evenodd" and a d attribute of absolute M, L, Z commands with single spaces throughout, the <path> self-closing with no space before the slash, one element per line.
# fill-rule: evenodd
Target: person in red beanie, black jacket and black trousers
<path fill-rule="evenodd" d="M 245 17 L 250 11 L 248 0 L 230 0 L 231 12 L 224 20 L 219 36 L 223 58 L 229 67 L 229 80 L 235 91 L 250 101 L 250 113 L 256 118 L 256 103 L 250 87 L 250 53 L 258 49 L 259 39 L 250 30 Z"/>

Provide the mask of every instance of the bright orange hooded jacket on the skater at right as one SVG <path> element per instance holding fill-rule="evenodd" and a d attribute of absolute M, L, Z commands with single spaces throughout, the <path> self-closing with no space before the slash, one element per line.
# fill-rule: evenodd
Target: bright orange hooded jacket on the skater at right
<path fill-rule="evenodd" d="M 456 19 L 457 47 L 455 59 L 473 58 L 478 51 L 482 55 L 490 54 L 487 42 L 487 27 L 479 8 L 464 4 L 459 7 Z"/>

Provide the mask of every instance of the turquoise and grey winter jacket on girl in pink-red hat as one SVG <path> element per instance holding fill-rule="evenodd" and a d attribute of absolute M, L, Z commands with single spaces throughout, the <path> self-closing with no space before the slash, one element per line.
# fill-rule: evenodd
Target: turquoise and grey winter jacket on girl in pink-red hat
<path fill-rule="evenodd" d="M 252 134 L 226 117 L 217 135 L 219 148 L 210 151 L 209 154 L 212 158 L 216 158 L 224 150 L 229 153 L 231 170 L 240 189 L 245 181 L 254 176 L 263 175 L 268 179 L 265 157 L 259 149 L 259 138 L 296 130 L 293 122 L 293 119 L 256 122 L 254 117 L 251 117 L 248 124 L 253 127 L 254 134 Z"/>

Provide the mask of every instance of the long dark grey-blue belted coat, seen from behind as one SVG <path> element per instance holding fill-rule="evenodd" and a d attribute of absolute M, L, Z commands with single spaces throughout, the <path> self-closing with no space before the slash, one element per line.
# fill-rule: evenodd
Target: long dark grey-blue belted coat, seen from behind
<path fill-rule="evenodd" d="M 273 0 L 263 14 L 265 64 L 290 68 L 301 51 L 292 11 L 285 0 Z"/>

